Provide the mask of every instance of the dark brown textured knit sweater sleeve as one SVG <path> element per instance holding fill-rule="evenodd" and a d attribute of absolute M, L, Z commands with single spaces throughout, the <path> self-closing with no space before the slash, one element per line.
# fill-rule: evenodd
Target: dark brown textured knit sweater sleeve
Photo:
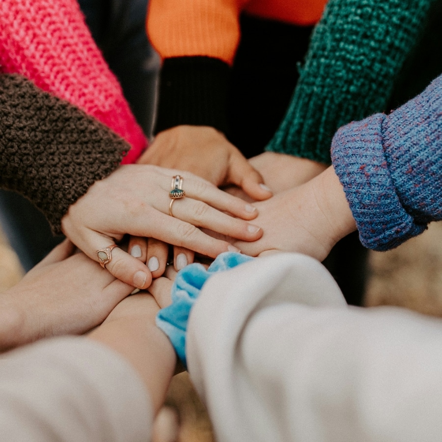
<path fill-rule="evenodd" d="M 0 187 L 32 201 L 55 234 L 69 206 L 111 174 L 130 146 L 19 75 L 0 75 Z"/>

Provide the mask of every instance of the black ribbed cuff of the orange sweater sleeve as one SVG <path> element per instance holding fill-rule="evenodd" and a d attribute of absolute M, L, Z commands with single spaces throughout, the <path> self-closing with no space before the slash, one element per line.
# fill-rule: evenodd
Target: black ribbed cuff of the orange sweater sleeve
<path fill-rule="evenodd" d="M 189 124 L 228 134 L 226 115 L 230 68 L 206 56 L 166 58 L 161 70 L 155 133 Z"/>

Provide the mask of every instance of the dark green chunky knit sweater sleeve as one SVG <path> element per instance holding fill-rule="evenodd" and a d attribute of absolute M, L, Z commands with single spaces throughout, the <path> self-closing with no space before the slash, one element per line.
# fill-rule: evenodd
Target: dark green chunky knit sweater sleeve
<path fill-rule="evenodd" d="M 330 0 L 266 150 L 330 164 L 335 131 L 385 111 L 435 0 Z"/>

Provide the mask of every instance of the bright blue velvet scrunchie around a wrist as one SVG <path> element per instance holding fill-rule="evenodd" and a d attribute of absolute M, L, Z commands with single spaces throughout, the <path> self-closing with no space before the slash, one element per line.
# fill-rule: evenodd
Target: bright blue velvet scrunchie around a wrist
<path fill-rule="evenodd" d="M 221 253 L 206 270 L 201 264 L 190 264 L 179 271 L 172 286 L 172 304 L 157 314 L 157 326 L 163 330 L 187 369 L 186 331 L 190 311 L 207 279 L 215 273 L 250 261 L 250 256 L 235 252 Z"/>

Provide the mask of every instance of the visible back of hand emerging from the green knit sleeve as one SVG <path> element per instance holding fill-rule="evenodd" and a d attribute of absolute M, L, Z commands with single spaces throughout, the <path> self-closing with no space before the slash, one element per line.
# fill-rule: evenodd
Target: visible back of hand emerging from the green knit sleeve
<path fill-rule="evenodd" d="M 264 152 L 249 159 L 273 193 L 283 192 L 310 181 L 327 165 L 306 158 L 276 152 Z"/>

